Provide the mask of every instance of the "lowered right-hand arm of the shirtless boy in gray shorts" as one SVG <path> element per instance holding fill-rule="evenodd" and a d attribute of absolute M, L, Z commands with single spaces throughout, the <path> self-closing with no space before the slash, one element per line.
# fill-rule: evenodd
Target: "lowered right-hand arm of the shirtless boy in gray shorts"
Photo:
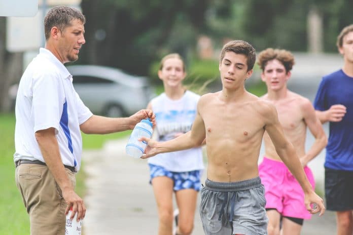
<path fill-rule="evenodd" d="M 272 104 L 264 105 L 264 119 L 265 119 L 265 130 L 270 136 L 273 145 L 276 148 L 277 154 L 280 159 L 286 164 L 288 169 L 298 180 L 305 194 L 305 207 L 306 209 L 315 214 L 321 212 L 320 215 L 324 214 L 325 207 L 323 200 L 313 191 L 311 184 L 306 178 L 304 169 L 300 164 L 298 155 L 293 145 L 286 139 L 283 129 L 278 121 L 276 108 Z M 310 204 L 316 204 L 315 209 L 311 209 Z"/>

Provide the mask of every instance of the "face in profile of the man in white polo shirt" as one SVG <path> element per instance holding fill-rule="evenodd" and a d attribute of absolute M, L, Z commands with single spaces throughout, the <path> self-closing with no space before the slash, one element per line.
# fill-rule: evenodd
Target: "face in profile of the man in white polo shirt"
<path fill-rule="evenodd" d="M 85 27 L 80 20 L 73 20 L 71 26 L 58 32 L 57 50 L 62 63 L 74 62 L 79 58 L 81 46 L 86 43 Z"/>

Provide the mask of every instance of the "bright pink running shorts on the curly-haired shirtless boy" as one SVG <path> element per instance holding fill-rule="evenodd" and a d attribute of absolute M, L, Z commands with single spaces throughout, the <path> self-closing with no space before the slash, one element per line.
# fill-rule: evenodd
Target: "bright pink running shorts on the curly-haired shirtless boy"
<path fill-rule="evenodd" d="M 310 168 L 304 167 L 312 188 L 315 180 Z M 281 215 L 310 219 L 311 214 L 304 205 L 304 191 L 283 162 L 264 157 L 259 166 L 259 176 L 265 186 L 265 208 L 274 208 Z"/>

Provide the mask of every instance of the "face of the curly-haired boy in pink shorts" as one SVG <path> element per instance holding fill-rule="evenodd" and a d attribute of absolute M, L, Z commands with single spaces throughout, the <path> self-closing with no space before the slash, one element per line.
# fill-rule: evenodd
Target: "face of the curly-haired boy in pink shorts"
<path fill-rule="evenodd" d="M 286 72 L 285 66 L 276 59 L 268 61 L 261 73 L 261 79 L 266 83 L 268 91 L 284 88 L 290 76 L 291 72 Z"/>

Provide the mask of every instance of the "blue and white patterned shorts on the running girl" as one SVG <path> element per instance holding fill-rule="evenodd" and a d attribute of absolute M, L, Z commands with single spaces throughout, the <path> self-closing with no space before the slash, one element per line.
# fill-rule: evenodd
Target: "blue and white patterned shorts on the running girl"
<path fill-rule="evenodd" d="M 174 181 L 174 191 L 192 188 L 196 191 L 200 190 L 200 177 L 202 170 L 186 171 L 186 172 L 172 172 L 167 171 L 164 167 L 148 164 L 150 166 L 150 183 L 153 178 L 158 176 L 166 176 Z"/>

